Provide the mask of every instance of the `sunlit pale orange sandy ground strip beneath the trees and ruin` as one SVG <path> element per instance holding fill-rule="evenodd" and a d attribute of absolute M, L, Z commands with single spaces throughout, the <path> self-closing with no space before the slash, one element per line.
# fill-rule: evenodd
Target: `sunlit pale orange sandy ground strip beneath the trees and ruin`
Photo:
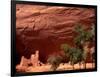
<path fill-rule="evenodd" d="M 46 72 L 46 71 L 50 71 L 50 67 L 51 65 L 49 64 L 45 64 L 43 66 L 36 66 L 36 67 L 28 67 L 27 71 L 26 72 Z M 86 63 L 86 69 L 92 69 L 95 67 L 95 64 L 93 63 Z M 79 64 L 75 64 L 74 65 L 74 70 L 77 70 L 77 69 L 84 69 L 84 66 L 83 64 L 81 64 L 81 68 L 79 66 Z M 64 64 L 60 64 L 59 67 L 57 68 L 57 70 L 73 70 L 73 67 L 68 64 L 68 63 L 64 63 Z"/>

